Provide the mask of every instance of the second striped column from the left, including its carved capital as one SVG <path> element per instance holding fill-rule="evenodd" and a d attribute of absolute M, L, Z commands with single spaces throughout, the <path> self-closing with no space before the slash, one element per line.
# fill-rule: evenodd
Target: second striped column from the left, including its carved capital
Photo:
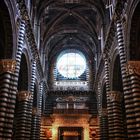
<path fill-rule="evenodd" d="M 19 91 L 17 99 L 15 139 L 30 140 L 32 94 L 29 91 Z"/>

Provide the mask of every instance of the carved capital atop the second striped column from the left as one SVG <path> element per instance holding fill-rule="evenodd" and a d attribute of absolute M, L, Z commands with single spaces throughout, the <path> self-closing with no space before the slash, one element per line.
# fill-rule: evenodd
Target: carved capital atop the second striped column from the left
<path fill-rule="evenodd" d="M 32 98 L 32 94 L 29 91 L 19 91 L 17 94 L 18 101 L 28 101 Z"/>

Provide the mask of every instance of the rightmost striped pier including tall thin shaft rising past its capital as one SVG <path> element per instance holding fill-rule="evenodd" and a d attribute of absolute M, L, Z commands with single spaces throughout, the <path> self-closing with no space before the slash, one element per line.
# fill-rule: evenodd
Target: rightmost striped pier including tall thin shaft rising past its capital
<path fill-rule="evenodd" d="M 127 134 L 130 139 L 140 139 L 140 117 L 139 117 L 139 97 L 140 92 L 139 76 L 136 74 L 130 74 L 130 65 L 126 61 L 126 50 L 124 45 L 123 37 L 123 25 L 122 21 L 117 18 L 117 38 L 118 38 L 118 49 L 120 54 L 121 73 L 124 90 L 124 101 L 126 109 L 127 119 Z M 137 104 L 137 105 L 136 105 Z M 135 113 L 136 111 L 136 113 Z"/>

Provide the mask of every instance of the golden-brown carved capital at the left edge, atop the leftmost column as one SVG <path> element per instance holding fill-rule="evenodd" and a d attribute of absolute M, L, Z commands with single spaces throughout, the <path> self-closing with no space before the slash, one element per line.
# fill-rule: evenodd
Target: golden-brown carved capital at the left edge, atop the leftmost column
<path fill-rule="evenodd" d="M 14 73 L 16 68 L 16 61 L 13 59 L 0 60 L 0 73 L 11 72 Z"/>

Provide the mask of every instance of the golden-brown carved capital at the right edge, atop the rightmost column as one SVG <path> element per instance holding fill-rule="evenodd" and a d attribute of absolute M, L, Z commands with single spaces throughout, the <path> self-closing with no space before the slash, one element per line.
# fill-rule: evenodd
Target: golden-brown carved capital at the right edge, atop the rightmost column
<path fill-rule="evenodd" d="M 140 61 L 128 61 L 126 64 L 127 74 L 140 75 Z"/>

